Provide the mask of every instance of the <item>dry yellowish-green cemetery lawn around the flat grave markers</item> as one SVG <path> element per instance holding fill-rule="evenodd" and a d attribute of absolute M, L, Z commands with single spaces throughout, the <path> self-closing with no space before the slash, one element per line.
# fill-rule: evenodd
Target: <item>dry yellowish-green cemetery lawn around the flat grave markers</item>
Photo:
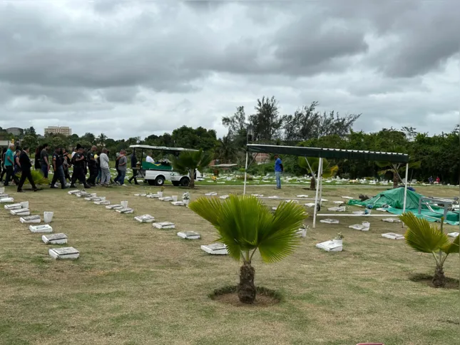
<path fill-rule="evenodd" d="M 68 246 L 81 257 L 73 262 L 51 259 L 48 248 L 58 246 L 41 242 L 41 235 L 32 234 L 1 205 L 0 344 L 460 344 L 458 289 L 413 282 L 416 274 L 434 272 L 434 259 L 412 251 L 404 241 L 381 237 L 403 231 L 381 218 L 371 218 L 369 232 L 348 228 L 362 222 L 361 217 L 339 217 L 339 225 L 318 223 L 282 262 L 263 264 L 255 255 L 256 284 L 277 290 L 284 300 L 272 307 L 236 307 L 212 301 L 208 294 L 236 284 L 240 265 L 200 250 L 200 244 L 215 240 L 215 231 L 187 208 L 135 197 L 133 193 L 145 190 L 138 186 L 91 189 L 112 203 L 128 200 L 133 215 L 106 210 L 67 190 L 14 190 L 6 188 L 15 202 L 28 200 L 32 214 L 55 212 L 54 232 L 68 235 Z M 293 186 L 247 190 L 314 197 L 314 192 Z M 342 195 L 380 190 L 324 187 L 323 197 L 329 200 L 324 205 L 332 207 Z M 416 190 L 459 195 L 454 187 Z M 165 195 L 184 191 L 166 187 Z M 191 191 L 192 200 L 209 191 L 242 193 L 242 187 L 198 186 Z M 144 214 L 175 222 L 176 229 L 155 230 L 133 220 Z M 306 224 L 311 227 L 312 217 Z M 458 229 L 445 227 L 448 232 Z M 176 236 L 180 230 L 198 231 L 203 238 L 181 240 Z M 345 236 L 343 252 L 315 248 L 337 232 Z M 447 277 L 458 278 L 459 256 L 452 254 L 444 270 Z"/>

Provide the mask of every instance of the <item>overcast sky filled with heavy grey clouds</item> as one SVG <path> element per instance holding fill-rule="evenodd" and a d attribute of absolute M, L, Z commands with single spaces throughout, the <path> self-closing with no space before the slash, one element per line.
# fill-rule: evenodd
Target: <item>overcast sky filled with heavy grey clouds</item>
<path fill-rule="evenodd" d="M 385 3 L 385 4 L 384 4 Z M 144 138 L 225 134 L 262 96 L 356 130 L 459 123 L 460 1 L 6 1 L 0 126 Z"/>

